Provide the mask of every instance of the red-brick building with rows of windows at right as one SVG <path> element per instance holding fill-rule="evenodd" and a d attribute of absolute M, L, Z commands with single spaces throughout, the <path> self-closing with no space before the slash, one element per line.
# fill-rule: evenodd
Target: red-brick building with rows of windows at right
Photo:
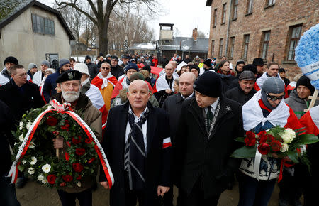
<path fill-rule="evenodd" d="M 252 63 L 263 58 L 301 72 L 294 48 L 303 32 L 319 23 L 318 0 L 207 0 L 211 6 L 208 56 Z"/>

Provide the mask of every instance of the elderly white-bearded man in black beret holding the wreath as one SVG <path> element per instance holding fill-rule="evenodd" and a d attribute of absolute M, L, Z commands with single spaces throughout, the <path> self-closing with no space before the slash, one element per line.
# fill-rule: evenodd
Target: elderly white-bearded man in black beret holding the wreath
<path fill-rule="evenodd" d="M 60 104 L 68 102 L 74 112 L 79 114 L 81 111 L 82 119 L 94 131 L 96 138 L 101 141 L 102 138 L 102 115 L 99 109 L 93 106 L 89 97 L 81 94 L 81 77 L 82 73 L 77 70 L 68 70 L 57 77 L 58 87 L 61 93 L 55 94 L 52 99 L 56 99 Z M 79 114 L 80 115 L 80 114 Z M 64 147 L 66 143 L 62 137 L 53 139 L 53 146 L 60 148 L 60 156 L 65 156 Z M 89 177 L 83 177 L 81 187 L 64 188 L 57 190 L 62 205 L 75 205 L 75 199 L 79 200 L 81 206 L 92 205 L 92 190 L 91 186 L 95 180 Z"/>

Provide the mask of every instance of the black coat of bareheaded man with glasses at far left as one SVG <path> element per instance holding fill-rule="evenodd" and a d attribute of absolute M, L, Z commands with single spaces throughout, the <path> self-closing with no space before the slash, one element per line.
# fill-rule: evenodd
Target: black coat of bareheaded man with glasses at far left
<path fill-rule="evenodd" d="M 28 81 L 18 87 L 11 79 L 6 85 L 0 87 L 0 99 L 9 106 L 16 121 L 20 121 L 22 115 L 30 109 L 45 105 L 38 85 Z"/>

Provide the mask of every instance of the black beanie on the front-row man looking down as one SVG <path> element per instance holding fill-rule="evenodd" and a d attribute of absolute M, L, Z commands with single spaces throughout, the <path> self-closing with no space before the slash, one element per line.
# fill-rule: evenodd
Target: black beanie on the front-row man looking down
<path fill-rule="evenodd" d="M 221 80 L 216 72 L 204 72 L 194 83 L 194 90 L 208 97 L 220 97 Z"/>

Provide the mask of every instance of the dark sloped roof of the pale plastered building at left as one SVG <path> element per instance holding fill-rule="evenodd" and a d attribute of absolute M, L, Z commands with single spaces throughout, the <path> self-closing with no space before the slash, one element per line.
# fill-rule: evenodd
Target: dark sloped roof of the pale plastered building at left
<path fill-rule="evenodd" d="M 0 29 L 4 28 L 7 24 L 18 17 L 23 11 L 30 8 L 30 6 L 38 6 L 40 9 L 54 13 L 62 24 L 63 28 L 67 32 L 67 35 L 71 40 L 74 40 L 72 32 L 69 30 L 67 23 L 63 19 L 60 11 L 52 9 L 50 6 L 41 4 L 35 0 L 0 0 Z"/>

